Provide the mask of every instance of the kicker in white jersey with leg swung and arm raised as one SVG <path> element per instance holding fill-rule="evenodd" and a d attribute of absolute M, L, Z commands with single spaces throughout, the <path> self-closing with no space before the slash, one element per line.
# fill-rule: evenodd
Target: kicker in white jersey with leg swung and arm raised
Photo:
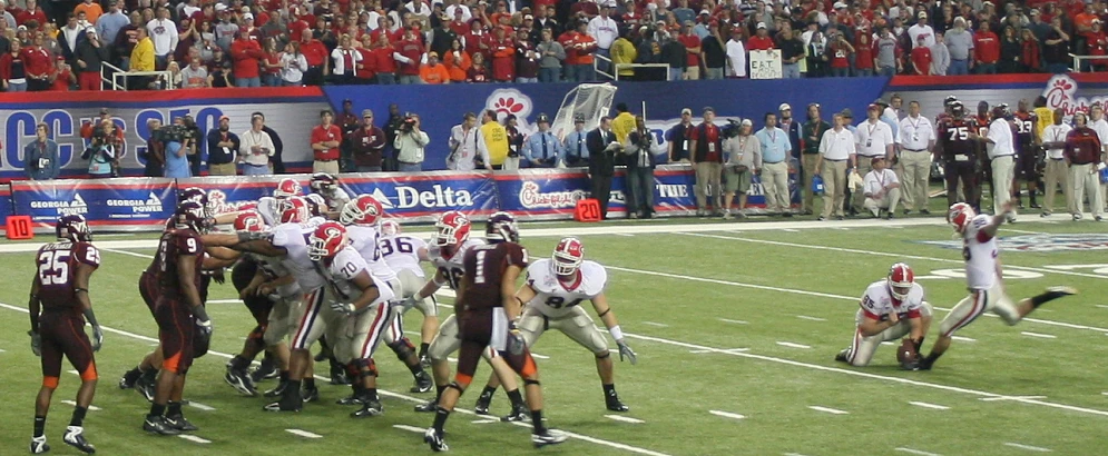
<path fill-rule="evenodd" d="M 947 318 L 939 324 L 939 339 L 931 353 L 920 361 L 921 370 L 929 370 L 935 360 L 950 348 L 951 336 L 965 327 L 981 314 L 992 311 L 1008 325 L 1016 325 L 1032 310 L 1063 296 L 1076 295 L 1070 287 L 1050 287 L 1038 296 L 1013 303 L 1004 293 L 1003 277 L 998 257 L 997 229 L 1012 214 L 1012 200 L 1006 202 L 1002 211 L 992 217 L 973 214 L 973 208 L 964 202 L 950 207 L 947 221 L 962 238 L 962 257 L 965 258 L 965 285 L 970 295 L 963 298 Z"/>

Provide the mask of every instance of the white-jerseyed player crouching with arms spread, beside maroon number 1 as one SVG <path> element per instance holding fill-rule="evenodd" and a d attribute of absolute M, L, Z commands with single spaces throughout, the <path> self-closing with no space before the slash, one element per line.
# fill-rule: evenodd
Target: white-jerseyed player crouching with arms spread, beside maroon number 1
<path fill-rule="evenodd" d="M 581 241 L 577 238 L 565 238 L 555 247 L 551 258 L 535 260 L 527 267 L 523 286 L 516 293 L 520 303 L 524 303 L 517 327 L 528 347 L 535 346 L 547 329 L 557 329 L 592 351 L 596 356 L 597 374 L 600 375 L 600 386 L 604 389 L 605 406 L 612 412 L 627 412 L 630 408 L 624 405 L 616 394 L 608 341 L 597 329 L 592 318 L 579 306 L 586 299 L 592 303 L 592 309 L 619 347 L 619 359 L 627 358 L 634 365 L 637 355 L 624 340 L 619 321 L 616 320 L 616 314 L 611 311 L 608 298 L 604 294 L 607 282 L 608 271 L 600 264 L 585 259 L 585 246 Z M 494 391 L 494 378 L 490 378 L 486 393 L 489 393 L 490 388 Z M 491 397 L 490 393 L 489 399 Z M 482 398 L 484 398 L 483 393 Z M 478 408 L 487 410 L 488 403 L 481 404 L 478 399 Z"/>

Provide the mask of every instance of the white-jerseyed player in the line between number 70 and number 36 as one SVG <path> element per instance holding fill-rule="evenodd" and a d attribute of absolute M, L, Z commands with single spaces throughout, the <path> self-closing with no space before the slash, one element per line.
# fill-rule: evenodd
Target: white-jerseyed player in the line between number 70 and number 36
<path fill-rule="evenodd" d="M 384 208 L 381 202 L 370 195 L 360 195 L 357 198 L 346 202 L 339 215 L 340 221 L 345 226 L 350 235 L 351 246 L 361 254 L 369 265 L 370 274 L 374 278 L 386 284 L 394 295 L 400 295 L 400 278 L 396 272 L 389 267 L 381 254 L 379 239 L 381 231 L 379 225 L 384 216 Z M 415 380 L 415 386 L 411 393 L 426 393 L 431 390 L 433 381 L 431 376 L 423 370 L 420 358 L 415 355 L 415 346 L 404 336 L 404 326 L 401 313 L 392 315 L 389 321 L 389 330 L 384 335 L 385 345 L 396 354 L 396 358 L 408 366 Z M 354 404 L 357 395 L 340 403 Z"/>

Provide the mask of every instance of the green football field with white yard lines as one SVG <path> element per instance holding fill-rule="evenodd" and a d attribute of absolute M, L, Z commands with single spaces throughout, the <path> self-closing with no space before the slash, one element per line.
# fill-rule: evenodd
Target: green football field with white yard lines
<path fill-rule="evenodd" d="M 630 412 L 604 407 L 594 356 L 559 333 L 532 347 L 549 426 L 569 433 L 547 455 L 1057 455 L 1105 454 L 1108 446 L 1108 234 L 1106 225 L 1022 217 L 1000 231 L 1006 287 L 1013 299 L 1056 285 L 1081 294 L 1053 301 L 1014 327 L 979 318 L 957 334 L 931 371 L 903 371 L 895 347 L 865 368 L 833 360 L 853 336 L 866 285 L 889 266 L 915 270 L 935 321 L 964 295 L 961 244 L 940 217 L 839 222 L 669 221 L 602 225 L 523 224 L 522 244 L 547 257 L 577 235 L 586 257 L 608 268 L 607 296 L 638 364 L 616 363 L 616 387 Z M 678 225 L 684 224 L 684 225 Z M 480 227 L 480 229 L 478 229 Z M 413 228 L 418 230 L 420 228 Z M 423 228 L 426 229 L 426 228 Z M 483 232 L 483 224 L 474 224 Z M 41 375 L 29 349 L 27 293 L 35 242 L 0 244 L 0 454 L 27 452 Z M 224 365 L 254 327 L 229 281 L 213 284 L 212 351 L 188 376 L 185 415 L 200 430 L 155 437 L 141 430 L 148 403 L 117 387 L 156 344 L 157 328 L 138 296 L 153 236 L 96 236 L 102 266 L 91 299 L 106 336 L 97 354 L 97 396 L 86 436 L 107 455 L 337 455 L 430 453 L 422 430 L 433 415 L 412 406 L 411 375 L 386 347 L 377 351 L 385 414 L 354 419 L 334 405 L 347 387 L 317 381 L 322 400 L 300 414 L 262 412 L 223 380 Z M 440 317 L 451 309 L 440 295 Z M 595 318 L 595 311 L 582 304 Z M 595 318 L 596 319 L 596 318 Z M 599 323 L 599 319 L 596 319 Z M 419 344 L 418 311 L 406 327 Z M 615 343 L 612 357 L 618 359 Z M 65 369 L 71 367 L 66 365 Z M 325 364 L 317 373 L 326 371 Z M 481 365 L 447 425 L 451 453 L 519 455 L 526 425 L 469 412 L 487 378 Z M 275 386 L 276 380 L 258 385 Z M 62 374 L 47 437 L 61 442 L 79 384 Z M 498 393 L 493 413 L 508 412 Z"/>

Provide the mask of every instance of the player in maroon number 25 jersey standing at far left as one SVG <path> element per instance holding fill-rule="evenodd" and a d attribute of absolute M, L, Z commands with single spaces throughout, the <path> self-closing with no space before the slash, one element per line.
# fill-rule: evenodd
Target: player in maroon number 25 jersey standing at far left
<path fill-rule="evenodd" d="M 85 439 L 82 422 L 96 394 L 94 351 L 104 343 L 104 331 L 92 314 L 88 297 L 89 279 L 100 266 L 100 252 L 92 247 L 92 232 L 79 215 L 63 216 L 55 226 L 58 240 L 47 244 L 35 256 L 37 270 L 31 280 L 31 351 L 42 358 L 42 388 L 35 400 L 35 436 L 31 453 L 50 450 L 46 444 L 46 415 L 61 377 L 61 357 L 69 358 L 81 376 L 77 406 L 62 440 L 84 453 L 96 453 Z M 41 315 L 39 311 L 41 310 Z M 82 317 L 84 316 L 84 317 Z M 92 325 L 94 340 L 85 334 L 85 321 Z"/>

